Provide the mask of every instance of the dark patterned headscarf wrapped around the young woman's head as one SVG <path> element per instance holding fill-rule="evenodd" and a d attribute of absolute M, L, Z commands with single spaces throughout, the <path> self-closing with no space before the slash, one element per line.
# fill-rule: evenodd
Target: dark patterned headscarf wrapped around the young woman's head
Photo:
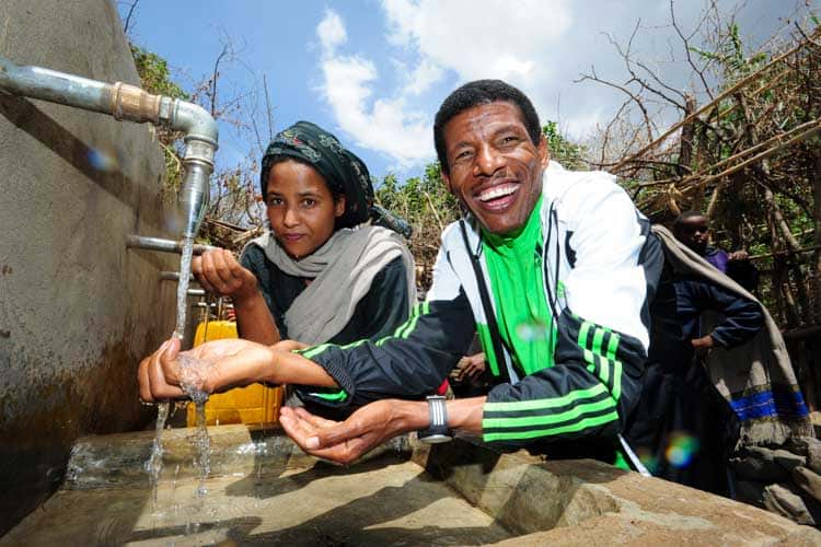
<path fill-rule="evenodd" d="M 263 155 L 259 185 L 266 201 L 270 168 L 282 156 L 313 166 L 332 194 L 345 196 L 345 212 L 337 221 L 337 228 L 352 228 L 370 218 L 373 185 L 368 167 L 336 137 L 310 121 L 297 121 L 277 133 Z"/>

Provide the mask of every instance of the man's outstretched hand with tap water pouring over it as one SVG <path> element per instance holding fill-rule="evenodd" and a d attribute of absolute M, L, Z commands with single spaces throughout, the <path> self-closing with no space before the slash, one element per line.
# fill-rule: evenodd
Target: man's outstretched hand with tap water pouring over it
<path fill-rule="evenodd" d="M 262 344 L 239 338 L 201 344 L 182 354 L 198 360 L 197 387 L 206 393 L 258 382 L 275 366 L 277 352 Z M 183 372 L 180 363 L 180 339 L 172 337 L 160 349 L 142 360 L 138 371 L 140 398 L 154 400 L 185 398 L 180 387 Z"/>

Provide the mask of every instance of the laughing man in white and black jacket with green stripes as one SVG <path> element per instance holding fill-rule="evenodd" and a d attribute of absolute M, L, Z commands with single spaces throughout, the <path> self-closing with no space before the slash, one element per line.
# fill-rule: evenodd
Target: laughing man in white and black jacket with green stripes
<path fill-rule="evenodd" d="M 531 102 L 501 81 L 454 91 L 433 132 L 470 214 L 442 234 L 427 301 L 393 336 L 303 351 L 342 388 L 317 403 L 365 406 L 339 423 L 286 408 L 282 426 L 339 462 L 403 432 L 442 441 L 454 429 L 615 461 L 618 434 L 637 421 L 663 265 L 649 222 L 613 176 L 551 162 Z M 407 400 L 439 385 L 474 331 L 496 380 L 488 395 Z"/>

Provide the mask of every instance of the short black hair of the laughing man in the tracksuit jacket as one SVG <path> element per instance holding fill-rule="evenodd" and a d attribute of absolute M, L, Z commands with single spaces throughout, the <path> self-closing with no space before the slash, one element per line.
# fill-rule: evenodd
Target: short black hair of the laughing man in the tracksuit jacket
<path fill-rule="evenodd" d="M 533 144 L 539 146 L 539 140 L 542 138 L 542 126 L 539 124 L 539 115 L 530 98 L 501 80 L 476 80 L 465 83 L 448 95 L 442 106 L 439 107 L 439 112 L 436 113 L 433 144 L 436 146 L 436 154 L 439 156 L 439 163 L 442 166 L 442 173 L 448 174 L 450 172 L 448 151 L 444 147 L 444 126 L 467 108 L 495 103 L 496 101 L 506 101 L 519 107 L 530 140 L 533 141 Z"/>

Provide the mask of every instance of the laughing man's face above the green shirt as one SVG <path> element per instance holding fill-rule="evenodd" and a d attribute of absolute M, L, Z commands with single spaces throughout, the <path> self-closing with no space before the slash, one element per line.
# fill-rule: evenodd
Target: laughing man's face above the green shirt
<path fill-rule="evenodd" d="M 498 101 L 469 108 L 444 126 L 453 193 L 490 233 L 524 225 L 542 193 L 547 165 L 544 137 L 534 146 L 519 107 Z"/>

